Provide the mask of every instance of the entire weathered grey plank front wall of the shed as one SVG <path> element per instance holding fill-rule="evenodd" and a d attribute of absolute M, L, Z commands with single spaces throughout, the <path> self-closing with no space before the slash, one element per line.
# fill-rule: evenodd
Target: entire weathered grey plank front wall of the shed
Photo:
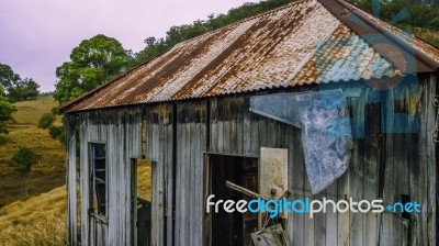
<path fill-rule="evenodd" d="M 203 226 L 209 224 L 203 221 L 204 152 L 259 156 L 260 147 L 275 147 L 289 149 L 289 199 L 382 198 L 387 204 L 401 201 L 401 194 L 409 194 L 412 201 L 423 205 L 423 212 L 412 220 L 387 212 L 319 213 L 314 219 L 290 214 L 285 230 L 293 245 L 436 245 L 437 166 L 431 142 L 435 78 L 421 78 L 419 86 L 419 94 L 407 88 L 402 93 L 414 96 L 410 100 L 390 101 L 384 108 L 387 113 L 395 110 L 419 119 L 418 134 L 391 133 L 398 124 L 392 116 L 386 118 L 385 133 L 380 121 L 386 110 L 381 110 L 379 103 L 362 107 L 370 93 L 349 99 L 356 119 L 365 115 L 365 135 L 353 141 L 349 170 L 317 195 L 311 194 L 301 130 L 251 113 L 249 94 L 144 105 L 146 158 L 157 161 L 153 167 L 153 244 L 203 244 L 203 233 L 209 231 Z M 122 122 L 127 116 L 124 113 L 132 115 L 131 120 Z M 89 176 L 87 143 L 108 144 L 111 206 L 108 232 L 103 233 L 108 235 L 106 244 L 130 243 L 128 164 L 130 158 L 140 155 L 138 115 L 138 109 L 80 114 L 81 177 Z M 352 121 L 352 126 L 359 131 L 362 124 Z M 95 235 L 85 233 L 94 225 L 87 212 L 88 187 L 88 179 L 81 179 L 82 242 Z"/>

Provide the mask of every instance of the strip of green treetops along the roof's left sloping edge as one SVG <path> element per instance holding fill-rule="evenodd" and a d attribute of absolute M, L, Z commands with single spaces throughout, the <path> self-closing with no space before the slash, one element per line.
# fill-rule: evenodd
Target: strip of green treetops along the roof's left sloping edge
<path fill-rule="evenodd" d="M 146 47 L 136 54 L 136 63 L 144 63 L 173 45 L 199 36 L 212 30 L 216 30 L 243 19 L 254 16 L 267 10 L 292 2 L 293 0 L 267 0 L 259 3 L 244 3 L 241 7 L 230 9 L 227 14 L 209 15 L 207 21 L 194 21 L 192 24 L 175 25 L 166 33 L 165 38 L 147 37 L 144 43 Z"/>

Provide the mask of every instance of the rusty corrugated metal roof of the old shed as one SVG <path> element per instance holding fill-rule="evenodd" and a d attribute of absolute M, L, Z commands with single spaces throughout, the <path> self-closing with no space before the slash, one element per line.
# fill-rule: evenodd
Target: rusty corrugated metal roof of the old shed
<path fill-rule="evenodd" d="M 328 8 L 330 2 L 340 8 Z M 358 27 L 352 29 L 344 21 L 349 13 L 344 8 L 337 0 L 295 2 L 182 42 L 64 105 L 63 110 L 72 112 L 399 74 L 398 60 L 392 60 L 389 54 L 383 58 L 380 51 L 358 35 Z M 362 18 L 370 15 L 363 13 Z M 439 60 L 437 49 L 399 34 L 384 22 L 380 24 L 395 31 L 403 42 L 413 43 L 425 56 Z"/>

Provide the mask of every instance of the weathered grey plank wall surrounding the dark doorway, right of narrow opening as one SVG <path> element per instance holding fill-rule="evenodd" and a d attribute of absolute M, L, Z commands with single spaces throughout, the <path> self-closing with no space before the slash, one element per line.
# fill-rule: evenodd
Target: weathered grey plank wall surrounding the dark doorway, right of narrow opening
<path fill-rule="evenodd" d="M 423 204 L 420 214 L 403 220 L 393 213 L 320 213 L 314 219 L 292 214 L 286 222 L 290 241 L 294 245 L 436 245 L 436 160 L 431 142 L 435 126 L 435 109 L 431 104 L 436 91 L 434 77 L 421 78 L 420 94 L 407 87 L 402 93 L 410 100 L 390 100 L 389 115 L 393 110 L 419 119 L 419 133 L 392 133 L 394 122 L 386 118 L 387 132 L 381 127 L 380 103 L 370 100 L 370 92 L 349 99 L 356 119 L 365 115 L 365 124 L 353 121 L 354 131 L 364 128 L 364 137 L 353 141 L 349 170 L 317 195 L 311 188 L 304 165 L 301 131 L 293 126 L 251 113 L 250 96 L 229 96 L 206 100 L 184 101 L 172 104 L 147 107 L 155 112 L 149 122 L 148 153 L 158 160 L 162 177 L 159 193 L 160 204 L 153 211 L 167 211 L 154 220 L 159 223 L 155 234 L 156 245 L 167 242 L 172 245 L 201 245 L 203 231 L 203 152 L 258 156 L 260 147 L 289 149 L 290 199 L 340 200 L 353 198 L 373 200 L 382 198 L 384 204 L 401 201 L 401 194 L 409 194 L 412 201 Z M 391 98 L 395 97 L 390 94 Z M 209 110 L 207 110 L 209 108 Z M 155 110 L 151 110 L 155 109 Z M 161 110 L 159 110 L 161 109 Z M 165 110 L 164 110 L 165 109 Z M 385 108 L 384 108 L 385 109 Z M 391 113 L 392 112 L 392 113 Z M 176 118 L 176 169 L 172 168 L 172 115 Z M 165 123 L 166 122 L 166 123 Z M 148 125 L 147 125 L 148 127 Z M 210 133 L 209 135 L 206 133 Z M 158 134 L 158 136 L 157 136 Z M 161 155 L 161 156 L 160 156 Z M 161 161 L 160 161 L 161 160 Z M 172 180 L 173 171 L 176 179 Z M 177 183 L 172 183 L 176 181 Z M 172 189 L 176 189 L 173 201 Z M 156 198 L 156 197 L 154 197 Z M 176 206 L 172 208 L 171 204 Z M 170 210 L 176 211 L 172 231 Z M 165 223 L 166 221 L 166 223 Z M 165 239 L 166 237 L 166 239 Z"/>

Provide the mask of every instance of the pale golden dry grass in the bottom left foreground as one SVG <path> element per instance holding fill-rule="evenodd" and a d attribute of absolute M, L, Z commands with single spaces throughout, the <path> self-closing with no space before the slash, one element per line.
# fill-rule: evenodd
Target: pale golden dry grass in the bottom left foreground
<path fill-rule="evenodd" d="M 67 245 L 66 187 L 0 209 L 4 246 Z"/>

